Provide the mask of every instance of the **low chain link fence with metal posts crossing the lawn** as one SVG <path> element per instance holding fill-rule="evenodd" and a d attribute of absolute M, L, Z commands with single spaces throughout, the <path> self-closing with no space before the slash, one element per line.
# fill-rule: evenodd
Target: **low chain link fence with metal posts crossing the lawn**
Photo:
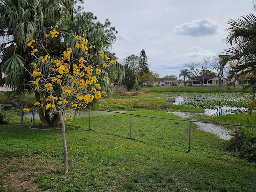
<path fill-rule="evenodd" d="M 30 109 L 30 112 L 24 113 L 23 108 Z M 1 122 L 4 117 L 9 123 L 40 126 L 35 107 L 1 104 L 0 112 Z M 74 118 L 68 118 L 69 115 Z M 67 127 L 92 130 L 186 152 L 202 152 L 202 148 L 206 153 L 214 152 L 218 140 L 217 147 L 224 148 L 229 154 L 256 162 L 256 126 L 143 116 L 135 112 L 97 109 L 85 109 L 80 112 L 70 110 L 63 116 L 67 118 Z"/>

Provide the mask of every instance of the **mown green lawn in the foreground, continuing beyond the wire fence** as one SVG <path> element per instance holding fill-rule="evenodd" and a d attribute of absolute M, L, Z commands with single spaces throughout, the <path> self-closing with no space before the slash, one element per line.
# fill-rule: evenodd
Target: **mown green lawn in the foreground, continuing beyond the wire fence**
<path fill-rule="evenodd" d="M 182 119 L 155 110 L 131 114 Z M 2 124 L 1 192 L 255 192 L 256 164 L 225 154 L 223 140 L 189 122 L 110 114 L 68 127 L 69 174 L 61 130 Z M 120 128 L 121 127 L 121 128 Z"/>

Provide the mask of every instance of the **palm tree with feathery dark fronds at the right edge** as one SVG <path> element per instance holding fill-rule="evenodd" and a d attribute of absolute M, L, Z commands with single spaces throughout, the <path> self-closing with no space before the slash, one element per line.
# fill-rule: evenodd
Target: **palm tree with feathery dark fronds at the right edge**
<path fill-rule="evenodd" d="M 229 65 L 229 79 L 247 75 L 256 85 L 256 16 L 248 14 L 228 22 L 226 41 L 232 46 L 220 55 L 222 65 Z"/>

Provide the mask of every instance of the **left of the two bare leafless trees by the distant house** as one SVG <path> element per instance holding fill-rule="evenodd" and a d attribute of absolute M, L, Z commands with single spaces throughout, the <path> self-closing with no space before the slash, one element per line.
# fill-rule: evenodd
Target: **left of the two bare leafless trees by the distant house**
<path fill-rule="evenodd" d="M 200 82 L 202 90 L 204 90 L 204 73 L 208 69 L 209 64 L 210 57 L 204 57 L 201 61 L 190 62 L 186 64 L 190 75 L 195 76 L 196 79 Z"/>

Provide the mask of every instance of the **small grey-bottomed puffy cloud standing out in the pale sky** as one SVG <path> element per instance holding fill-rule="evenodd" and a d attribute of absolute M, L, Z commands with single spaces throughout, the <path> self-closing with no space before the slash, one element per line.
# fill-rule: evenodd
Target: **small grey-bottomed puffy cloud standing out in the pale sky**
<path fill-rule="evenodd" d="M 193 20 L 190 23 L 183 23 L 180 26 L 174 27 L 174 34 L 189 35 L 192 37 L 210 36 L 218 33 L 220 24 L 202 18 L 200 20 Z"/>

